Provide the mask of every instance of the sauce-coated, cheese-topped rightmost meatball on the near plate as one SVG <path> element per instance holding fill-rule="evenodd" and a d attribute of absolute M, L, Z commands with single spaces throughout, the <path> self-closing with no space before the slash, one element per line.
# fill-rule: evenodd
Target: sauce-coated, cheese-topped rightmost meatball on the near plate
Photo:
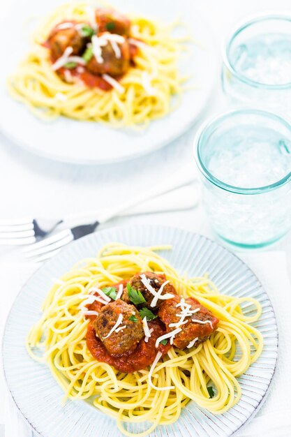
<path fill-rule="evenodd" d="M 177 304 L 181 306 L 177 306 Z M 185 318 L 187 322 L 181 325 L 181 332 L 178 332 L 174 336 L 174 346 L 177 346 L 179 349 L 185 349 L 194 339 L 197 339 L 195 343 L 201 343 L 206 340 L 212 332 L 216 330 L 219 323 L 218 318 L 216 318 L 209 309 L 201 305 L 197 299 L 194 299 L 194 297 L 182 299 L 181 296 L 177 295 L 173 299 L 165 300 L 158 311 L 158 316 L 163 320 L 163 323 L 165 323 L 167 332 L 177 329 L 177 326 L 170 327 L 170 324 L 179 323 L 181 317 L 177 316 L 177 314 L 181 313 L 181 309 L 185 308 L 187 304 L 190 305 L 190 307 L 188 307 L 189 311 L 195 309 L 199 309 L 199 311 L 191 314 L 191 316 L 187 316 Z M 199 320 L 202 323 L 193 320 Z"/>

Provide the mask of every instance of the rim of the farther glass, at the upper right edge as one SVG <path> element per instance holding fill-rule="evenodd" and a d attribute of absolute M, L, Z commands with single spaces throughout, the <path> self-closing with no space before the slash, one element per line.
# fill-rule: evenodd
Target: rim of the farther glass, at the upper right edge
<path fill-rule="evenodd" d="M 270 89 L 270 90 L 280 90 L 280 89 L 288 89 L 291 87 L 291 82 L 286 82 L 284 84 L 264 84 L 262 82 L 257 82 L 253 79 L 250 79 L 249 77 L 246 77 L 245 75 L 242 75 L 239 73 L 234 66 L 232 66 L 232 63 L 229 59 L 229 53 L 230 53 L 230 47 L 234 41 L 235 38 L 239 34 L 241 34 L 242 31 L 247 29 L 248 27 L 253 26 L 254 24 L 257 24 L 258 22 L 263 22 L 267 20 L 283 20 L 285 22 L 290 22 L 291 24 L 291 14 L 288 12 L 267 12 L 264 14 L 256 14 L 252 15 L 251 17 L 248 17 L 248 20 L 244 20 L 244 22 L 240 22 L 237 24 L 237 26 L 234 28 L 230 36 L 225 41 L 224 47 L 223 47 L 223 64 L 228 68 L 228 70 L 237 77 L 238 80 L 241 82 L 244 82 L 248 84 L 251 87 L 254 88 L 262 88 L 262 89 Z M 290 32 L 291 36 L 291 32 Z"/>

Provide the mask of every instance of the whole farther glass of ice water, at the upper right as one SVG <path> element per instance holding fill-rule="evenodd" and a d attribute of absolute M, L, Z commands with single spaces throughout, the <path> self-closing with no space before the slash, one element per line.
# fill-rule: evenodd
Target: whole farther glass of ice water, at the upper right
<path fill-rule="evenodd" d="M 231 103 L 291 114 L 291 15 L 262 15 L 242 24 L 223 51 L 223 90 Z"/>

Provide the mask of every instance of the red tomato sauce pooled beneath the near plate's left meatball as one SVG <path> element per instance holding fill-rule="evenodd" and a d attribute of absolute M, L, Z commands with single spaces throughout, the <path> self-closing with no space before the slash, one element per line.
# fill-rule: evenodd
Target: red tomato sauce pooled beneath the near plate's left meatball
<path fill-rule="evenodd" d="M 153 328 L 154 331 L 151 333 L 147 343 L 142 339 L 134 352 L 122 355 L 121 357 L 112 357 L 107 353 L 102 341 L 96 337 L 95 328 L 93 322 L 91 322 L 87 329 L 87 347 L 96 360 L 106 362 L 121 372 L 131 373 L 146 369 L 147 366 L 154 362 L 157 352 L 165 355 L 171 347 L 170 341 L 166 345 L 160 343 L 158 348 L 155 346 L 156 339 L 166 333 L 165 325 L 160 320 L 151 320 L 148 322 L 148 325 L 149 329 Z"/>

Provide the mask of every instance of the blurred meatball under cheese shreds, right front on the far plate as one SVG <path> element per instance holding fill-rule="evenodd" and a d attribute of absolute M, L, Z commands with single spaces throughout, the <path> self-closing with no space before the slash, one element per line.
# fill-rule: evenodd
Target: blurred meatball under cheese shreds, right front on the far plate
<path fill-rule="evenodd" d="M 91 73 L 98 75 L 108 74 L 110 76 L 119 76 L 128 71 L 130 65 L 128 41 L 124 40 L 123 43 L 115 42 L 115 45 L 117 45 L 120 51 L 120 57 L 117 57 L 117 54 L 114 51 L 114 45 L 112 45 L 112 43 L 108 40 L 106 45 L 100 47 L 103 62 L 98 62 L 94 56 L 92 56 L 89 60 L 87 68 Z"/>

